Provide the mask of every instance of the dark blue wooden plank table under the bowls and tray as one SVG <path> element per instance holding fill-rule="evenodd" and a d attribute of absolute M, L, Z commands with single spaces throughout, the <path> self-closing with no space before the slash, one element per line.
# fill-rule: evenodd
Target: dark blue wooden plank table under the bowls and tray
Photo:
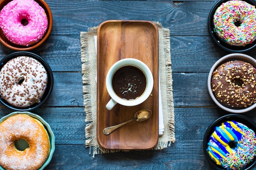
<path fill-rule="evenodd" d="M 213 170 L 203 152 L 208 126 L 229 113 L 213 103 L 207 91 L 211 66 L 229 54 L 209 37 L 207 19 L 214 0 L 86 1 L 45 0 L 53 29 L 47 41 L 32 50 L 54 74 L 47 102 L 32 111 L 43 117 L 56 137 L 56 150 L 46 170 Z M 100 154 L 85 147 L 80 32 L 105 20 L 159 21 L 170 29 L 175 106 L 175 138 L 163 150 Z M 0 44 L 0 59 L 15 51 Z M 247 55 L 256 57 L 256 49 Z M 13 112 L 0 106 L 0 117 Z M 244 113 L 256 121 L 255 110 Z M 256 168 L 254 168 L 256 169 Z"/>

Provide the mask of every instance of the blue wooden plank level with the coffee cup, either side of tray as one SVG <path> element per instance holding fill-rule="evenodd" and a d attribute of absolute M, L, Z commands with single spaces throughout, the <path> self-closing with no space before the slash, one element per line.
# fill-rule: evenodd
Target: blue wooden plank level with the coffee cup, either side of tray
<path fill-rule="evenodd" d="M 42 107 L 83 107 L 81 75 L 79 72 L 54 72 L 52 94 Z M 175 107 L 217 107 L 207 90 L 209 73 L 174 72 L 172 75 Z"/>

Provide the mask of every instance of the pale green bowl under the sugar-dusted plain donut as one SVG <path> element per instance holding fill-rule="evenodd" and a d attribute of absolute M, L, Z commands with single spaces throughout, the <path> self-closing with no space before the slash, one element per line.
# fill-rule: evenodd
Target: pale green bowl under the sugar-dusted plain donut
<path fill-rule="evenodd" d="M 52 160 L 52 156 L 54 154 L 54 150 L 55 150 L 55 136 L 54 136 L 54 133 L 52 132 L 52 129 L 49 126 L 49 124 L 42 117 L 40 117 L 40 116 L 38 116 L 34 113 L 30 113 L 30 112 L 13 112 L 13 113 L 10 113 L 9 115 L 6 115 L 6 116 L 2 117 L 0 119 L 0 123 L 2 121 L 4 121 L 5 119 L 8 119 L 11 116 L 18 115 L 18 114 L 26 114 L 26 115 L 29 115 L 29 116 L 35 118 L 35 119 L 38 119 L 43 124 L 46 131 L 48 132 L 49 140 L 50 140 L 50 152 L 49 152 L 49 155 L 48 155 L 45 163 L 42 165 L 41 168 L 39 168 L 39 170 L 43 170 L 50 163 L 50 161 Z M 20 146 L 20 147 L 22 147 L 22 146 Z M 5 169 L 2 168 L 2 166 L 0 165 L 0 170 L 5 170 Z"/>

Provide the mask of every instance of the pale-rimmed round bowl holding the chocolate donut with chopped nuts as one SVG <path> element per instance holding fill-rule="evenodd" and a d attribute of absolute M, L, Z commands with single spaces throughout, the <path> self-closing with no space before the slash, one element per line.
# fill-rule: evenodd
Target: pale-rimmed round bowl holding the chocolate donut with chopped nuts
<path fill-rule="evenodd" d="M 229 107 L 226 107 L 225 105 L 222 105 L 216 99 L 215 95 L 213 95 L 213 92 L 211 91 L 211 77 L 212 77 L 213 71 L 215 71 L 216 68 L 218 68 L 221 64 L 223 64 L 225 62 L 229 62 L 229 61 L 234 61 L 234 60 L 240 60 L 240 61 L 250 63 L 254 66 L 254 68 L 256 68 L 256 60 L 253 57 L 250 57 L 249 55 L 240 54 L 240 53 L 233 53 L 233 54 L 225 55 L 224 57 L 220 58 L 215 64 L 213 64 L 213 66 L 209 72 L 209 75 L 208 75 L 207 88 L 208 88 L 209 95 L 211 96 L 211 99 L 213 100 L 213 102 L 217 106 L 222 108 L 223 110 L 231 112 L 231 113 L 245 113 L 249 110 L 254 109 L 256 107 L 256 103 L 247 108 L 229 108 Z"/>

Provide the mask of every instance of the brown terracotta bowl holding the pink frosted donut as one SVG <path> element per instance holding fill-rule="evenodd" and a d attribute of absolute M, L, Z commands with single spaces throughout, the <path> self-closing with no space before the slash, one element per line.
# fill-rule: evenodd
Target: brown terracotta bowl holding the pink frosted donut
<path fill-rule="evenodd" d="M 0 10 L 2 10 L 2 8 L 11 1 L 12 0 L 1 0 L 0 1 Z M 0 28 L 0 42 L 2 42 L 2 44 L 4 44 L 4 46 L 7 46 L 8 48 L 17 50 L 17 51 L 29 51 L 32 49 L 36 49 L 38 46 L 43 44 L 43 42 L 45 42 L 45 40 L 47 40 L 47 38 L 49 37 L 49 35 L 52 31 L 52 24 L 53 24 L 52 11 L 49 8 L 48 4 L 44 0 L 35 0 L 35 1 L 45 10 L 45 13 L 46 13 L 47 19 L 48 19 L 48 28 L 47 28 L 43 38 L 40 41 L 38 41 L 37 43 L 32 44 L 30 46 L 21 46 L 21 45 L 13 44 L 9 40 L 7 40 L 7 38 L 2 33 L 2 29 Z"/>

